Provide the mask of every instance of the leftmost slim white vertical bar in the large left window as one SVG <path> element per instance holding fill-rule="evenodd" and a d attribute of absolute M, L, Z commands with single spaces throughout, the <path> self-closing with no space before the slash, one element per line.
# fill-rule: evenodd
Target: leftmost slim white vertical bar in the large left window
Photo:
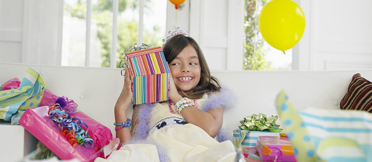
<path fill-rule="evenodd" d="M 85 66 L 90 64 L 90 27 L 92 18 L 92 0 L 87 0 L 86 4 L 86 41 L 85 41 Z"/>

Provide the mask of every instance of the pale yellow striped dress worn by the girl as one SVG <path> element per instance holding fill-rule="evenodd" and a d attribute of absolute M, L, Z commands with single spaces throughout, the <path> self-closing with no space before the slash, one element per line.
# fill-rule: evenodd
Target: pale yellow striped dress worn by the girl
<path fill-rule="evenodd" d="M 196 101 L 197 108 L 208 105 L 208 96 Z M 137 107 L 141 108 L 141 107 Z M 172 104 L 174 112 L 175 106 Z M 168 102 L 154 103 L 150 111 L 148 136 L 131 141 L 105 160 L 95 162 L 233 162 L 236 151 L 230 140 L 218 142 L 204 130 L 172 113 Z M 138 109 L 139 111 L 140 109 Z M 204 108 L 205 110 L 205 108 Z M 140 114 L 140 113 L 139 113 Z"/>

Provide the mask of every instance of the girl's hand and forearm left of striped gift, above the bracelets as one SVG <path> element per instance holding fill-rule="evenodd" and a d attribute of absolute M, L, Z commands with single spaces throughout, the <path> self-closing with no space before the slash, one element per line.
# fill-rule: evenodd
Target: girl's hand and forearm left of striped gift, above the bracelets
<path fill-rule="evenodd" d="M 130 70 L 129 68 L 125 69 L 124 86 L 115 106 L 115 108 L 119 108 L 125 111 L 128 109 L 132 101 L 132 81 L 130 79 L 131 74 L 129 70 Z"/>

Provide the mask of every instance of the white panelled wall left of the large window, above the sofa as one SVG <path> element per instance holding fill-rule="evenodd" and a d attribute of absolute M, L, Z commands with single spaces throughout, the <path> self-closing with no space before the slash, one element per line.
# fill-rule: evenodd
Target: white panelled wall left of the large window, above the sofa
<path fill-rule="evenodd" d="M 63 0 L 0 0 L 0 61 L 60 65 Z"/>

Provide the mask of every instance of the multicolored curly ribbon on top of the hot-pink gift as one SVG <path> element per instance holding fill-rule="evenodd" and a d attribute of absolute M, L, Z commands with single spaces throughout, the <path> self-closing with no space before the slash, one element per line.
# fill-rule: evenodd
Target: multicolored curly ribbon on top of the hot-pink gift
<path fill-rule="evenodd" d="M 94 146 L 94 141 L 88 134 L 88 125 L 76 117 L 71 117 L 70 113 L 60 107 L 60 104 L 52 105 L 48 114 L 72 146 L 79 144 L 84 145 L 87 149 Z M 83 125 L 85 125 L 86 130 L 83 129 Z"/>

